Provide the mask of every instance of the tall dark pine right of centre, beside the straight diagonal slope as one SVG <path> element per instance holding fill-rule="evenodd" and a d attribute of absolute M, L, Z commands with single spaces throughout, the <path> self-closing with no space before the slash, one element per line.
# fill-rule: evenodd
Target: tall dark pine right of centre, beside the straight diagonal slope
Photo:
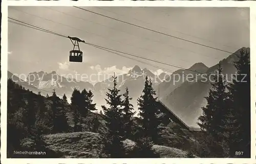
<path fill-rule="evenodd" d="M 152 87 L 152 81 L 148 81 L 148 78 L 145 78 L 145 85 L 143 89 L 143 95 L 138 99 L 139 105 L 139 115 L 142 118 L 143 131 L 146 137 L 151 137 L 154 143 L 158 143 L 159 129 L 158 125 L 160 124 L 157 114 L 159 109 L 156 106 L 155 98 L 156 92 Z"/>

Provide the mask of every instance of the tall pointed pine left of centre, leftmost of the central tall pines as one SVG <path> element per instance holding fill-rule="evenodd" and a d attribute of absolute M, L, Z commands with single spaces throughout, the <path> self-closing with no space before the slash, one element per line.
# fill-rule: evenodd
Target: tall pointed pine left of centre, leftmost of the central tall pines
<path fill-rule="evenodd" d="M 105 135 L 103 141 L 104 148 L 103 151 L 106 155 L 111 158 L 122 158 L 124 157 L 124 146 L 122 141 L 123 138 L 123 121 L 122 121 L 122 101 L 120 90 L 117 89 L 117 77 L 114 78 L 114 87 L 108 89 L 109 92 L 106 93 L 108 97 L 105 99 L 109 107 L 102 106 L 105 113 L 106 126 L 108 127 L 108 132 Z"/>

